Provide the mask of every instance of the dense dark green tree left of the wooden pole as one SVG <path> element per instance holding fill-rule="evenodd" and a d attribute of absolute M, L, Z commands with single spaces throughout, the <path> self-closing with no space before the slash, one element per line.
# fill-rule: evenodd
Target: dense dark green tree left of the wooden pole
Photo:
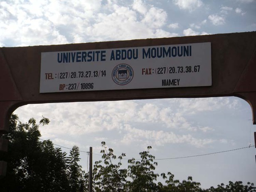
<path fill-rule="evenodd" d="M 71 170 L 73 165 L 77 167 L 78 147 L 67 158 L 61 148 L 54 148 L 52 141 L 40 141 L 39 126 L 49 122 L 43 117 L 39 124 L 34 118 L 21 123 L 17 115 L 11 116 L 9 133 L 3 135 L 9 140 L 8 152 L 0 153 L 0 160 L 8 162 L 7 175 L 0 180 L 1 192 L 69 192 L 74 188 L 77 175 Z M 81 169 L 78 172 L 82 175 Z"/>

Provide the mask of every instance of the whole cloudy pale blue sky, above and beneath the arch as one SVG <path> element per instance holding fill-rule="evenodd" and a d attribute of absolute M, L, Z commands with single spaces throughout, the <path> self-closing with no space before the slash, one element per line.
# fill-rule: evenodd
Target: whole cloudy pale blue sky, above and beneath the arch
<path fill-rule="evenodd" d="M 255 30 L 256 0 L 0 0 L 0 47 Z M 156 159 L 177 158 L 254 145 L 256 128 L 249 104 L 235 97 L 37 104 L 15 113 L 23 122 L 49 118 L 42 139 L 83 151 L 92 146 L 94 161 L 101 141 L 127 158 L 139 158 L 148 145 Z M 157 160 L 156 172 L 190 175 L 202 187 L 256 183 L 255 152 Z M 87 157 L 81 152 L 86 170 Z"/>

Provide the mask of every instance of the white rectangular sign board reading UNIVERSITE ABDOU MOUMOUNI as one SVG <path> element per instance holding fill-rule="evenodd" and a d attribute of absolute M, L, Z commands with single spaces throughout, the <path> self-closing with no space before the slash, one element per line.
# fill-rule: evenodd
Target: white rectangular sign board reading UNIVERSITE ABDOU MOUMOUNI
<path fill-rule="evenodd" d="M 43 52 L 40 93 L 211 86 L 211 43 Z"/>

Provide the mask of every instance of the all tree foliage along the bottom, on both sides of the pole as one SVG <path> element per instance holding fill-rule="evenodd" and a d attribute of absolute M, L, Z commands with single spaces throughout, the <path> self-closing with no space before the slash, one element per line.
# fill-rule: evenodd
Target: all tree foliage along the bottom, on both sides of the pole
<path fill-rule="evenodd" d="M 61 148 L 54 148 L 50 140 L 40 140 L 39 126 L 47 125 L 48 118 L 39 124 L 34 118 L 21 123 L 16 115 L 10 118 L 8 152 L 0 153 L 0 160 L 8 162 L 7 175 L 0 180 L 1 192 L 86 192 L 89 173 L 79 165 L 79 148 L 74 146 L 69 155 Z M 140 152 L 140 159 L 129 159 L 122 165 L 125 153 L 119 156 L 102 142 L 101 160 L 93 168 L 94 192 L 256 192 L 253 183 L 243 185 L 241 181 L 223 183 L 217 187 L 202 189 L 192 177 L 175 180 L 171 172 L 155 173 L 155 156 L 151 147 Z M 158 178 L 164 181 L 157 182 Z"/>

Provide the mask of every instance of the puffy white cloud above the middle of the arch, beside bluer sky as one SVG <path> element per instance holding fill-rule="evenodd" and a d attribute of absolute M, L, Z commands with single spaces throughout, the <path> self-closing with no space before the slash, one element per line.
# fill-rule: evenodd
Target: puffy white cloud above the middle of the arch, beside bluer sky
<path fill-rule="evenodd" d="M 144 15 L 137 17 L 139 5 L 147 10 L 140 12 Z M 94 25 L 85 29 L 88 38 L 101 41 L 176 36 L 160 29 L 167 20 L 167 13 L 162 9 L 146 7 L 142 1 L 136 1 L 133 8 L 112 5 L 110 14 L 99 13 Z"/>

